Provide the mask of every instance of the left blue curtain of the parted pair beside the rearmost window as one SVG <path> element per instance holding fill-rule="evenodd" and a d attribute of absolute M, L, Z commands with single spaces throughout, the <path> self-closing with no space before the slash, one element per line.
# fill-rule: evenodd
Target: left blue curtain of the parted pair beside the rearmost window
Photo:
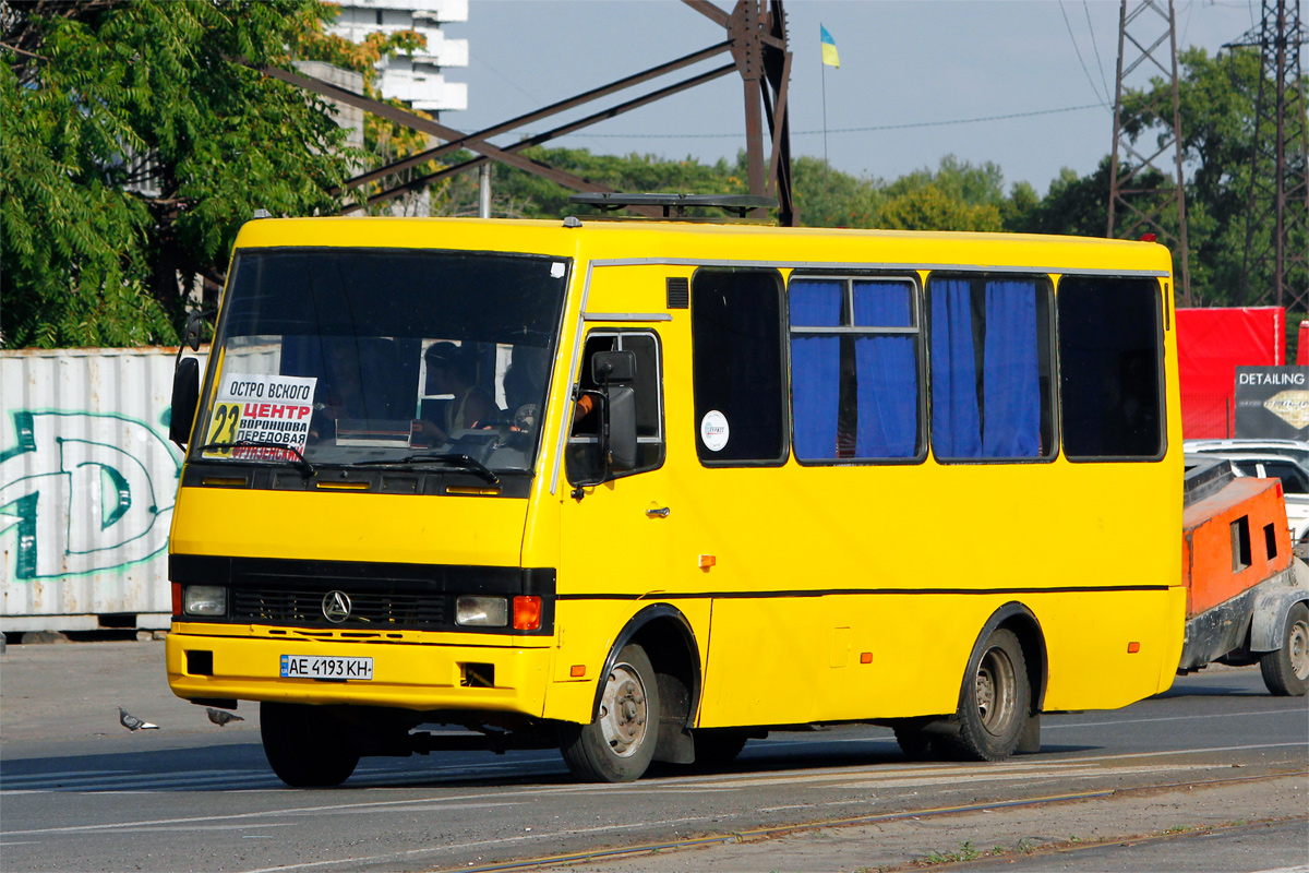
<path fill-rule="evenodd" d="M 939 458 L 982 455 L 970 285 L 966 279 L 932 281 L 932 452 Z"/>

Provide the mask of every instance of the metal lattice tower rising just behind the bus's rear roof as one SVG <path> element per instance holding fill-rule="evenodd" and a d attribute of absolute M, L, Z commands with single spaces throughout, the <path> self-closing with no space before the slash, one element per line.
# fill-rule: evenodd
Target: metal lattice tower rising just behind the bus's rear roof
<path fill-rule="evenodd" d="M 1177 27 L 1173 3 L 1141 0 L 1131 12 L 1122 0 L 1118 13 L 1118 84 L 1114 96 L 1114 151 L 1109 170 L 1109 237 L 1139 238 L 1145 233 L 1173 250 L 1179 267 L 1182 304 L 1191 304 L 1191 271 L 1186 247 L 1186 191 L 1182 175 L 1181 113 L 1177 89 Z M 1172 84 L 1155 89 L 1162 75 Z M 1128 115 L 1124 88 L 1145 98 Z M 1157 137 L 1127 134 L 1139 118 L 1152 119 Z M 1149 151 L 1153 147 L 1153 151 Z"/>

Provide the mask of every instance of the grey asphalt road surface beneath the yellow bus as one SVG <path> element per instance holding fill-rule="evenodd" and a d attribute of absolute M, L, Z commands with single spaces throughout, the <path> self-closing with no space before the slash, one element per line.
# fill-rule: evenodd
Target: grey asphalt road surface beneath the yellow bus
<path fill-rule="evenodd" d="M 161 729 L 128 733 L 118 724 L 118 704 Z M 1278 822 L 1258 838 L 1262 842 L 1249 843 L 1255 847 L 1249 863 L 1207 869 L 1287 866 L 1287 857 L 1309 865 L 1309 848 L 1296 857 L 1309 839 L 1302 779 L 1309 770 L 1309 709 L 1305 698 L 1268 696 L 1257 669 L 1182 678 L 1169 692 L 1115 712 L 1049 716 L 1042 751 L 1003 764 L 912 764 L 890 732 L 848 726 L 774 734 L 751 741 L 736 763 L 717 772 L 665 767 L 632 785 L 576 784 L 558 753 L 530 751 L 372 758 L 339 789 L 292 791 L 267 768 L 257 709 L 247 704 L 240 712 L 246 721 L 217 728 L 203 708 L 173 699 L 158 643 L 10 647 L 0 656 L 0 866 L 479 869 L 516 859 L 668 844 L 658 869 L 726 869 L 725 856 L 720 864 L 717 856 L 673 852 L 672 844 L 703 838 L 723 843 L 732 835 L 768 840 L 776 828 L 804 826 L 764 843 L 762 855 L 737 866 L 859 869 L 870 865 L 831 852 L 813 855 L 817 835 L 850 836 L 859 827 L 889 832 L 893 819 L 927 822 L 918 842 L 891 852 L 885 864 L 873 853 L 882 866 L 931 852 L 950 856 L 962 835 L 974 832 L 961 825 L 966 815 L 990 825 L 1038 822 L 1014 823 L 1012 832 L 1001 827 L 995 838 L 975 832 L 997 843 L 1007 835 L 1009 846 L 1024 839 L 1034 840 L 1028 848 L 1055 846 L 1076 836 L 1066 823 L 1072 821 L 1069 810 L 1168 787 L 1178 787 L 1174 793 L 1211 792 L 1206 796 L 1215 800 L 1213 809 L 1204 813 L 1210 825 Z M 1296 775 L 1299 781 L 1287 781 Z M 1295 794 L 1289 800 L 1288 792 Z M 1067 800 L 1043 800 L 1050 797 Z M 1153 810 L 1149 815 L 1119 801 L 1121 814 L 1111 814 L 1111 823 L 1126 817 L 1119 834 L 1183 832 L 1179 828 L 1192 827 L 1203 806 L 1189 797 L 1138 804 Z M 1005 802 L 1029 805 L 1007 810 L 999 806 Z M 967 811 L 978 806 L 986 809 Z M 1039 814 L 1024 819 L 1024 813 Z M 814 830 L 816 823 L 827 828 Z M 1085 827 L 1084 838 L 1109 834 Z M 1200 836 L 1190 843 L 1203 848 Z M 1211 846 L 1255 839 L 1230 828 L 1203 836 Z M 1168 844 L 1181 843 L 1186 840 Z M 783 846 L 810 855 L 778 855 Z M 1109 857 L 1114 848 L 1097 851 Z M 1185 849 L 1170 848 L 1172 857 L 1177 851 Z M 1202 853 L 1212 855 L 1207 848 Z M 1102 857 L 1089 863 L 1093 866 L 1017 869 L 1134 869 Z M 651 857 L 632 864 L 630 869 L 654 868 Z"/>

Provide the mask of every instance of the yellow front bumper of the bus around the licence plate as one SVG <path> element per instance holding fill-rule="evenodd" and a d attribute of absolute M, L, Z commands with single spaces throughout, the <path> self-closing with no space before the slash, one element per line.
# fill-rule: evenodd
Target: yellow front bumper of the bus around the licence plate
<path fill-rule="evenodd" d="M 552 649 L 309 639 L 168 636 L 168 681 L 187 700 L 492 711 L 541 716 Z M 281 675 L 283 657 L 372 658 L 370 679 Z M 357 664 L 357 662 L 356 662 Z"/>

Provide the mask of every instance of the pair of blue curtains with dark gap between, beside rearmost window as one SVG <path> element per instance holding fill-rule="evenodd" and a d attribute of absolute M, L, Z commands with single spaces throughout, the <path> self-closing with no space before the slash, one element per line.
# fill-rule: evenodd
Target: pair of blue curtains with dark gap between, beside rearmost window
<path fill-rule="evenodd" d="M 1037 285 L 987 281 L 982 323 L 975 325 L 971 284 L 932 283 L 932 449 L 940 458 L 1038 457 Z"/>

